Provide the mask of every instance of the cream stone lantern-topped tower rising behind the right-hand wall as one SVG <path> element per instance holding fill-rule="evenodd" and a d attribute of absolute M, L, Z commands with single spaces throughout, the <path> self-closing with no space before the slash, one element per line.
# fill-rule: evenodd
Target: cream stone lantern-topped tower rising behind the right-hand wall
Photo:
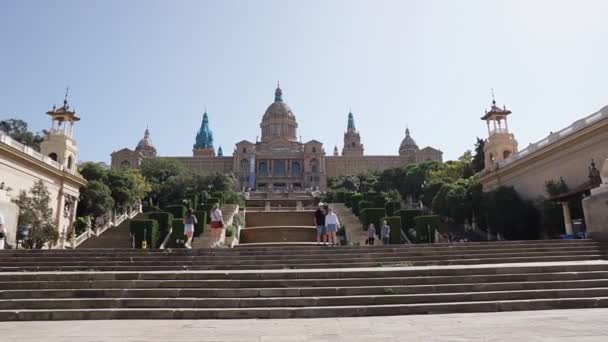
<path fill-rule="evenodd" d="M 499 108 L 492 93 L 492 107 L 481 118 L 488 126 L 488 139 L 483 147 L 485 155 L 484 170 L 494 169 L 499 161 L 507 159 L 517 152 L 517 140 L 509 133 L 507 116 L 511 111 L 506 106 Z"/>

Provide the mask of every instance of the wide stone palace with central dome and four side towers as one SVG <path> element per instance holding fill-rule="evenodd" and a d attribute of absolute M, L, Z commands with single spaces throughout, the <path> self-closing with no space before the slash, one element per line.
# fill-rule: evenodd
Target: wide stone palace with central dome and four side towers
<path fill-rule="evenodd" d="M 419 149 L 409 129 L 405 131 L 398 154 L 365 155 L 352 111 L 348 113 L 342 154 L 340 155 L 338 147 L 335 146 L 333 155 L 326 155 L 322 142 L 298 140 L 296 115 L 283 101 L 283 91 L 278 86 L 274 101 L 264 112 L 260 129 L 259 141 L 256 139 L 255 142 L 237 142 L 232 156 L 224 156 L 221 147 L 216 154 L 209 114 L 205 110 L 201 127 L 196 134 L 193 155 L 161 158 L 178 160 L 196 171 L 232 172 L 238 180 L 239 189 L 259 190 L 323 190 L 329 177 L 379 171 L 425 160 L 442 160 L 442 152 L 437 149 Z M 139 167 L 144 158 L 156 156 L 150 132 L 146 129 L 144 138 L 134 151 L 124 148 L 112 153 L 112 167 Z"/>

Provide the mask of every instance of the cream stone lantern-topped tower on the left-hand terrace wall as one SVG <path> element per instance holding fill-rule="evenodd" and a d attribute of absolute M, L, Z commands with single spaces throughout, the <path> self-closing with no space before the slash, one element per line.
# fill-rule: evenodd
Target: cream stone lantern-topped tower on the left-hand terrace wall
<path fill-rule="evenodd" d="M 40 144 L 40 152 L 53 159 L 70 173 L 76 172 L 78 160 L 78 147 L 74 140 L 74 123 L 80 121 L 76 111 L 68 104 L 68 91 L 66 89 L 63 106 L 46 112 L 51 117 L 51 129 L 48 136 Z"/>

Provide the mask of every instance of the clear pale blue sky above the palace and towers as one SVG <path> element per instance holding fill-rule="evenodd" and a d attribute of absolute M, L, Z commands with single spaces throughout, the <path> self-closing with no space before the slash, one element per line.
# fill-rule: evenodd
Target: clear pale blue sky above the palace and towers
<path fill-rule="evenodd" d="M 280 80 L 303 139 L 341 148 L 352 107 L 367 154 L 406 125 L 457 158 L 485 137 L 494 88 L 520 147 L 608 104 L 608 1 L 0 1 L 0 118 L 35 130 L 69 85 L 81 160 L 191 155 L 255 141 Z"/>

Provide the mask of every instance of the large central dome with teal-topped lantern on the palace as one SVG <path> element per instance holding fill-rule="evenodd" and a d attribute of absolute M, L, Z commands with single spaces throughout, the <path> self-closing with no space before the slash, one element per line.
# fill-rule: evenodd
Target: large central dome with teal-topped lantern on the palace
<path fill-rule="evenodd" d="M 296 129 L 298 123 L 291 108 L 283 102 L 283 91 L 280 87 L 274 92 L 274 102 L 268 106 L 262 123 L 262 141 L 268 142 L 275 139 L 297 141 Z"/>

